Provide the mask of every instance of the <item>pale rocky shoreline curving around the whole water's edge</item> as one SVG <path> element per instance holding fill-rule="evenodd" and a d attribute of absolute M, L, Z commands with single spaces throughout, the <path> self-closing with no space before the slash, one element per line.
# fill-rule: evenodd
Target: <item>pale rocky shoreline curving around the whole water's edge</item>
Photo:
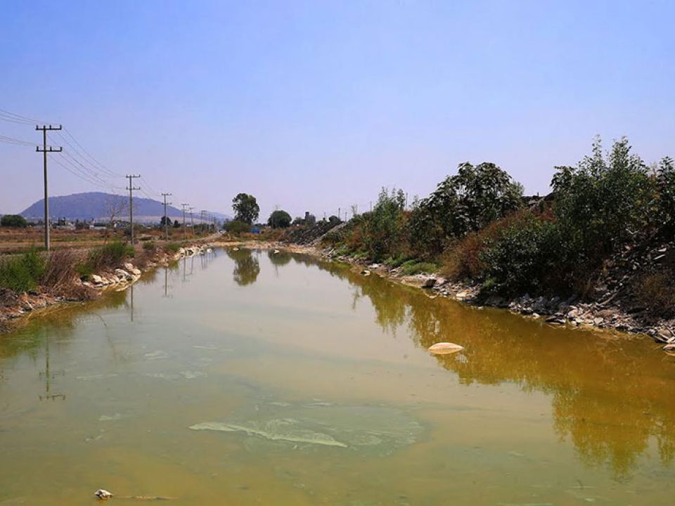
<path fill-rule="evenodd" d="M 307 254 L 325 261 L 349 264 L 361 275 L 378 275 L 392 281 L 392 283 L 416 287 L 423 292 L 427 292 L 428 297 L 431 298 L 445 297 L 470 306 L 506 309 L 510 313 L 520 314 L 525 318 L 541 319 L 547 325 L 644 335 L 653 339 L 654 342 L 662 344 L 665 353 L 675 356 L 675 327 L 667 323 L 641 324 L 629 313 L 617 307 L 604 306 L 593 301 L 562 299 L 560 297 L 533 298 L 529 297 L 528 294 L 513 299 L 497 296 L 481 298 L 479 285 L 454 283 L 442 278 L 437 273 L 401 275 L 398 268 L 390 268 L 384 264 L 373 264 L 366 259 L 337 255 L 333 248 L 264 240 L 208 239 L 204 242 L 182 246 L 175 254 L 169 254 L 162 250 L 141 268 L 134 266 L 133 259 L 130 259 L 118 268 L 106 269 L 101 273 L 89 276 L 89 280 L 74 280 L 73 286 L 86 290 L 84 292 L 86 296 L 63 297 L 52 294 L 49 290 L 16 294 L 15 304 L 0 307 L 0 334 L 13 330 L 18 323 L 27 320 L 27 316 L 39 314 L 41 310 L 66 304 L 82 304 L 92 299 L 98 299 L 108 290 L 126 290 L 136 283 L 143 273 L 183 257 L 203 254 L 208 247 L 245 247 L 250 249 L 279 249 L 290 253 Z"/>

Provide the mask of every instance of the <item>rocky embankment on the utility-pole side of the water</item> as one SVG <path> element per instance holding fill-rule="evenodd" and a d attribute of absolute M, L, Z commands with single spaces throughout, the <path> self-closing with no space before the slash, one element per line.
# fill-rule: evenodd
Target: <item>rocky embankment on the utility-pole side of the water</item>
<path fill-rule="evenodd" d="M 59 292 L 68 292 L 69 295 L 56 294 L 49 287 L 41 287 L 35 292 L 17 294 L 11 290 L 0 290 L 0 331 L 8 327 L 11 320 L 33 313 L 37 309 L 44 309 L 55 304 L 67 302 L 81 302 L 99 297 L 106 290 L 126 290 L 136 283 L 143 271 L 150 271 L 159 265 L 166 265 L 184 257 L 193 257 L 210 251 L 210 245 L 191 245 L 181 247 L 177 252 L 156 252 L 150 259 L 144 258 L 142 265 L 134 266 L 133 259 L 125 261 L 117 268 L 104 269 L 86 278 L 73 278 L 68 290 L 60 287 Z"/>

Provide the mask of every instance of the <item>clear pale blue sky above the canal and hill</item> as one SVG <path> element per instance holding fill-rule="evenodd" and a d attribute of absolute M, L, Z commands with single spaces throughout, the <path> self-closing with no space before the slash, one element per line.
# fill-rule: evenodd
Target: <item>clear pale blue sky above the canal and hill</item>
<path fill-rule="evenodd" d="M 174 205 L 231 214 L 245 192 L 261 220 L 321 218 L 466 161 L 544 194 L 596 135 L 675 156 L 674 19 L 669 0 L 0 0 L 0 110 L 72 135 L 50 134 L 50 195 L 141 174 Z M 0 213 L 42 193 L 41 155 L 0 142 Z"/>

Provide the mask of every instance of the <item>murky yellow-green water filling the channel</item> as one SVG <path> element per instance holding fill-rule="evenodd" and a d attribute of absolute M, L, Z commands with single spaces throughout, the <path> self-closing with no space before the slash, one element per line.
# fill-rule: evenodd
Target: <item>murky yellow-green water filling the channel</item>
<path fill-rule="evenodd" d="M 0 505 L 665 505 L 675 363 L 217 251 L 2 337 L 0 449 Z"/>

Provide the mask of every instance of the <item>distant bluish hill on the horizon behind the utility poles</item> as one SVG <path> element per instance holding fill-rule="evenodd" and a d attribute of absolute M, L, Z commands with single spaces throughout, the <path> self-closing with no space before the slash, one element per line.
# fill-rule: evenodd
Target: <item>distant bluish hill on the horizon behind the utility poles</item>
<path fill-rule="evenodd" d="M 73 193 L 49 197 L 49 214 L 52 219 L 110 219 L 110 208 L 122 209 L 115 219 L 125 219 L 129 214 L 129 197 L 114 195 L 113 193 L 89 192 Z M 44 216 L 44 199 L 40 199 L 20 213 L 26 219 L 41 219 Z M 218 219 L 227 216 L 221 213 L 212 213 Z M 183 216 L 183 212 L 173 206 L 167 206 L 167 215 L 172 218 Z M 164 205 L 159 200 L 134 197 L 134 219 L 139 221 L 154 221 L 164 216 Z M 198 218 L 199 212 L 195 213 Z M 135 220 L 134 220 L 135 221 Z"/>

